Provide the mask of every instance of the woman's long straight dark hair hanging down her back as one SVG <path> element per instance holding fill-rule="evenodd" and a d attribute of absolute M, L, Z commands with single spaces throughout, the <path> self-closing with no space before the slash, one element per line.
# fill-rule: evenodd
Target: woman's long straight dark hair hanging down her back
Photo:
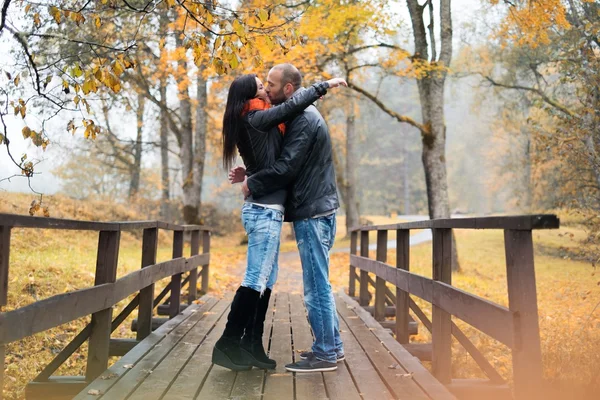
<path fill-rule="evenodd" d="M 225 115 L 223 115 L 223 167 L 231 168 L 236 157 L 239 132 L 244 128 L 242 111 L 246 101 L 256 97 L 256 75 L 238 76 L 229 87 Z"/>

